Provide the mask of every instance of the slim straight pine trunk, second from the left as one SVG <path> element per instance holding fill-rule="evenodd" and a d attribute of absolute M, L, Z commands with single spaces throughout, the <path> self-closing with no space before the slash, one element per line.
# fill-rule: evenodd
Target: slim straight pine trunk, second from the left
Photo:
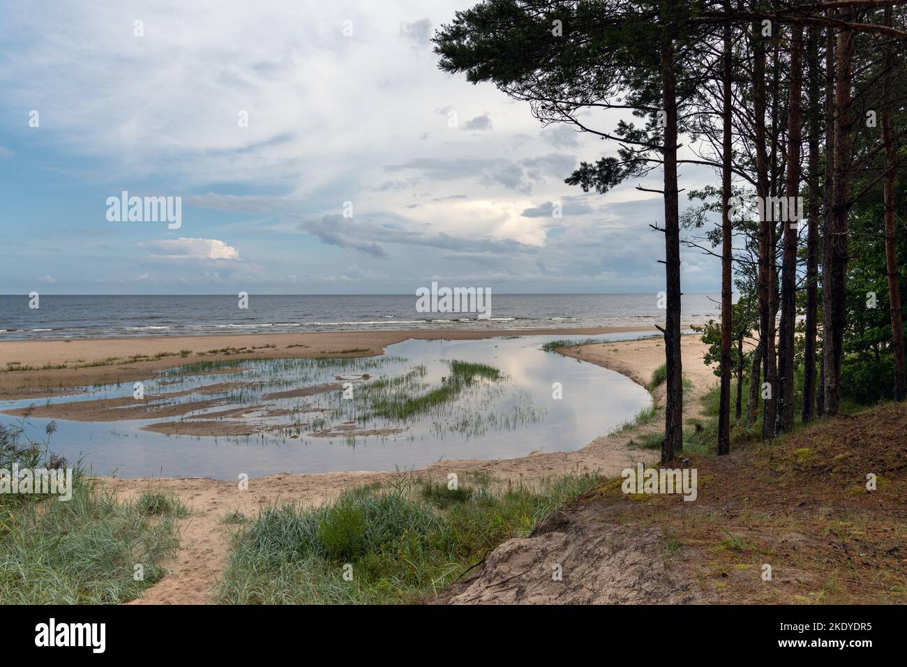
<path fill-rule="evenodd" d="M 730 10 L 730 4 L 725 0 L 725 11 Z M 723 142 L 722 142 L 722 221 L 721 221 L 721 360 L 719 364 L 721 373 L 721 389 L 718 404 L 718 454 L 730 453 L 730 407 L 731 407 L 731 25 L 725 24 L 724 34 L 724 108 Z M 737 404 L 737 415 L 740 407 Z"/>

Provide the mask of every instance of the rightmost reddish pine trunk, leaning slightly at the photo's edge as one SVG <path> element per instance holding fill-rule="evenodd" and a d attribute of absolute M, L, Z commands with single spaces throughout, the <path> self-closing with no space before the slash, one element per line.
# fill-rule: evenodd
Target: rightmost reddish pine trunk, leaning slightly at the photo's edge
<path fill-rule="evenodd" d="M 885 25 L 892 25 L 892 7 L 885 7 Z M 901 284 L 898 277 L 897 234 L 894 223 L 894 181 L 897 167 L 897 147 L 892 142 L 892 73 L 894 54 L 885 46 L 884 103 L 882 109 L 882 142 L 885 147 L 885 264 L 888 272 L 888 302 L 892 318 L 892 353 L 894 355 L 894 397 L 902 401 L 907 395 L 904 377 L 904 332 L 901 314 Z"/>

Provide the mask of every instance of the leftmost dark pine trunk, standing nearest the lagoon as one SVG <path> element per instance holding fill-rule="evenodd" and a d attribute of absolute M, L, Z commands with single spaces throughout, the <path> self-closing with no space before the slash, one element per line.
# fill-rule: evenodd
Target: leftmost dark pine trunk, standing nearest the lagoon
<path fill-rule="evenodd" d="M 661 460 L 668 464 L 683 448 L 683 365 L 680 359 L 680 219 L 678 212 L 678 113 L 675 90 L 674 44 L 661 44 L 662 102 L 665 111 L 664 197 L 665 275 L 668 311 L 665 319 L 665 364 L 668 397 Z"/>

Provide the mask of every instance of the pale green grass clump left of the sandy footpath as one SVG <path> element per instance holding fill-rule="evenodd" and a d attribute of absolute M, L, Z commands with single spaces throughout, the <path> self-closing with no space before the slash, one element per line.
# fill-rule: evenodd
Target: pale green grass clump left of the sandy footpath
<path fill-rule="evenodd" d="M 0 427 L 0 467 L 67 467 L 22 427 Z M 179 545 L 171 495 L 123 501 L 73 467 L 73 497 L 0 495 L 0 604 L 105 604 L 132 600 L 164 576 Z M 136 581 L 135 565 L 143 568 Z"/>

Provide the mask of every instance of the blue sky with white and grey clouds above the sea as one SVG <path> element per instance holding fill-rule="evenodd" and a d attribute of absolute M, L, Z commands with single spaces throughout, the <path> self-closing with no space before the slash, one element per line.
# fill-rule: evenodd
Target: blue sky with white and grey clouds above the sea
<path fill-rule="evenodd" d="M 660 171 L 583 193 L 564 178 L 613 144 L 437 68 L 472 4 L 5 0 L 0 293 L 664 289 L 663 203 L 635 189 Z M 122 191 L 180 197 L 179 229 L 110 220 Z"/>

